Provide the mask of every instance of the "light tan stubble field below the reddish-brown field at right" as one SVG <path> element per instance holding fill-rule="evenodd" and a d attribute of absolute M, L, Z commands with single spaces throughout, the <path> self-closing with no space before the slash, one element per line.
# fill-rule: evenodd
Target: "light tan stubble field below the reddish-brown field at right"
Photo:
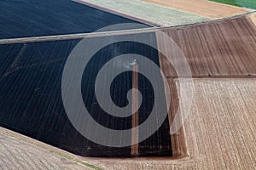
<path fill-rule="evenodd" d="M 184 133 L 197 169 L 256 166 L 256 79 L 196 79 Z"/>

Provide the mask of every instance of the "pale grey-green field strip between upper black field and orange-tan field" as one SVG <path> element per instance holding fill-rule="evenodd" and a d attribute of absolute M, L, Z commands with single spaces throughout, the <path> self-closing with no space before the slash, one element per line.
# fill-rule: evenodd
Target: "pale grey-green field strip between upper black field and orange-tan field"
<path fill-rule="evenodd" d="M 73 0 L 76 1 L 76 0 Z M 138 20 L 148 20 L 155 25 L 177 26 L 186 25 L 201 21 L 211 20 L 210 18 L 196 14 L 184 13 L 171 8 L 164 8 L 152 3 L 145 3 L 140 0 L 79 0 L 86 4 L 90 3 L 102 8 L 108 8 L 120 14 L 126 14 Z"/>

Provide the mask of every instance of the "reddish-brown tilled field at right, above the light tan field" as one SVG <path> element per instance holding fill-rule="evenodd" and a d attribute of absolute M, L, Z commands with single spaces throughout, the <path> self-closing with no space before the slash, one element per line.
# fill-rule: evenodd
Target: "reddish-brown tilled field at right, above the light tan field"
<path fill-rule="evenodd" d="M 256 31 L 252 20 L 248 17 L 170 28 L 164 31 L 183 51 L 193 77 L 256 75 Z M 161 40 L 158 42 L 164 45 Z M 164 65 L 166 60 L 161 59 L 166 75 L 175 76 L 172 66 Z"/>

